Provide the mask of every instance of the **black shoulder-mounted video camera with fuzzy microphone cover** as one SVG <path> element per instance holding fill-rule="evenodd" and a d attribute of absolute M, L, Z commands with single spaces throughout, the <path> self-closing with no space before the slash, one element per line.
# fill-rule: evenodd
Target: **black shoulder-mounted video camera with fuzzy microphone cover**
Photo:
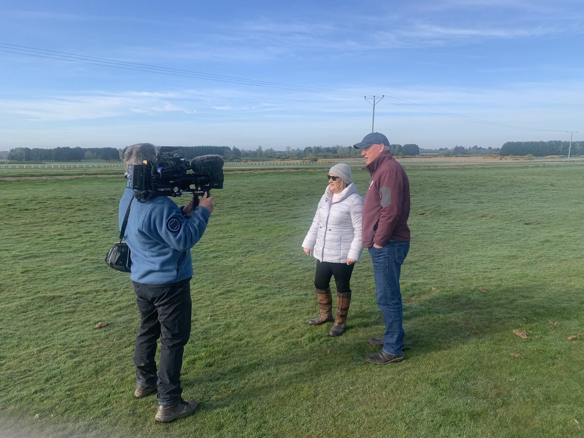
<path fill-rule="evenodd" d="M 189 161 L 173 153 L 178 149 L 162 146 L 154 162 L 128 166 L 126 187 L 138 192 L 138 201 L 145 202 L 153 196 L 208 194 L 211 189 L 223 189 L 225 161 L 221 155 L 201 155 Z"/>

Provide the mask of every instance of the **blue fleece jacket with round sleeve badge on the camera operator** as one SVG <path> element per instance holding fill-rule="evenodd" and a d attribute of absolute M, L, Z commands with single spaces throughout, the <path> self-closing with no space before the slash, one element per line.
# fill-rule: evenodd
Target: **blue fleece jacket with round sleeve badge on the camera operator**
<path fill-rule="evenodd" d="M 120 200 L 120 229 L 134 190 L 126 189 Z M 132 201 L 124 240 L 130 248 L 130 278 L 142 284 L 170 284 L 193 276 L 190 249 L 203 236 L 211 213 L 196 207 L 187 218 L 175 201 L 155 196 Z"/>

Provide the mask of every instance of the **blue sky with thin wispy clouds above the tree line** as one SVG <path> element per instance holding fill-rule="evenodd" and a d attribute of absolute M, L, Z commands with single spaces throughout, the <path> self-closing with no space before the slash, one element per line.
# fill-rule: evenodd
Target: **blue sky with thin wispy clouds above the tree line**
<path fill-rule="evenodd" d="M 346 146 L 374 95 L 392 143 L 584 134 L 580 0 L 0 6 L 0 150 Z"/>

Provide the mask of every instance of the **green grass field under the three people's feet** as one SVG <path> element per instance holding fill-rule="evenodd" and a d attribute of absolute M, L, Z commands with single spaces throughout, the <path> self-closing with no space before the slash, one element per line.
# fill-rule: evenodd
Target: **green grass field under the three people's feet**
<path fill-rule="evenodd" d="M 0 436 L 583 436 L 584 166 L 407 168 L 409 349 L 386 366 L 363 359 L 383 332 L 367 252 L 345 334 L 307 324 L 326 171 L 225 174 L 193 249 L 200 408 L 168 425 L 133 398 L 137 306 L 103 263 L 123 178 L 0 178 Z"/>

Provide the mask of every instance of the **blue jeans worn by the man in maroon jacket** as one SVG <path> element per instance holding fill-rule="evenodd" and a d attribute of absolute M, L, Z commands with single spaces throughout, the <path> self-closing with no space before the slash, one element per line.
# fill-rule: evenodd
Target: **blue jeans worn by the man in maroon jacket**
<path fill-rule="evenodd" d="M 409 251 L 409 242 L 390 240 L 383 248 L 369 248 L 375 276 L 375 296 L 385 322 L 383 350 L 397 356 L 404 346 L 404 308 L 399 274 Z"/>

